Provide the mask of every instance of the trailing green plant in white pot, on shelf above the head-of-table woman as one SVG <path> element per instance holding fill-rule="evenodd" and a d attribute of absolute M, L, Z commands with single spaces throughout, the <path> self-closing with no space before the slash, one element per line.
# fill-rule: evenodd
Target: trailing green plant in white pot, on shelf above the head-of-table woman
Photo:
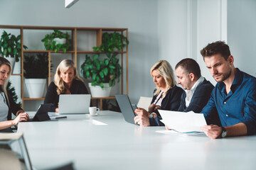
<path fill-rule="evenodd" d="M 54 52 L 63 51 L 67 52 L 72 47 L 72 41 L 68 33 L 63 33 L 58 29 L 54 29 L 53 33 L 46 34 L 45 38 L 41 40 L 44 42 L 46 50 Z"/>

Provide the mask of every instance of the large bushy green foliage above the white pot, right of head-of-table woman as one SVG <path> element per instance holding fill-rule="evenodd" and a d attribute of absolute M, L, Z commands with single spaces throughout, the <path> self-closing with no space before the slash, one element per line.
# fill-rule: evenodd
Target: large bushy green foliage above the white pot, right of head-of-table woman
<path fill-rule="evenodd" d="M 85 56 L 85 62 L 81 65 L 81 72 L 85 79 L 92 78 L 92 86 L 104 87 L 103 83 L 114 86 L 115 81 L 119 82 L 122 73 L 122 67 L 117 59 L 117 53 L 106 53 L 107 58 L 99 60 L 100 55 L 97 54 L 93 58 Z"/>

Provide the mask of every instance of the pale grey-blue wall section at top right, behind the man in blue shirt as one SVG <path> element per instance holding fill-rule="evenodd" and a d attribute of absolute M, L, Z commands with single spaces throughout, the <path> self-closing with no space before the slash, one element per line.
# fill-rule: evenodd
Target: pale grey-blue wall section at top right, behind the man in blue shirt
<path fill-rule="evenodd" d="M 235 58 L 235 67 L 255 77 L 255 0 L 228 0 L 228 45 Z"/>

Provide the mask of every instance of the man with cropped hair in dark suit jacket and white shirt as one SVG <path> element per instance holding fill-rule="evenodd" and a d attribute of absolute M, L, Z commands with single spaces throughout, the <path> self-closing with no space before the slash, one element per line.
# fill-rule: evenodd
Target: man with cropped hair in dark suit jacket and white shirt
<path fill-rule="evenodd" d="M 175 72 L 177 83 L 184 89 L 178 111 L 201 113 L 210 98 L 213 84 L 201 76 L 198 63 L 191 58 L 178 62 Z"/>

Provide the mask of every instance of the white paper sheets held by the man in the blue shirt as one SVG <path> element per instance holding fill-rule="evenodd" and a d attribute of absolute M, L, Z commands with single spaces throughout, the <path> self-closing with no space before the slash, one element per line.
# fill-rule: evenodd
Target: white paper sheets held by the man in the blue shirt
<path fill-rule="evenodd" d="M 203 132 L 200 128 L 206 125 L 206 119 L 202 113 L 178 112 L 159 110 L 161 122 L 168 128 L 181 133 L 198 133 Z"/>

